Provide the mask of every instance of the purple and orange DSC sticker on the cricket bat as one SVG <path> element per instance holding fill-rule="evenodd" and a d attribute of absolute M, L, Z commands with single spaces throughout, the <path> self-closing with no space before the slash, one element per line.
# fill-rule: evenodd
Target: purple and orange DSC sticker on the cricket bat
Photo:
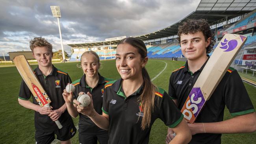
<path fill-rule="evenodd" d="M 204 103 L 205 100 L 200 87 L 194 87 L 181 110 L 187 122 L 193 123 L 195 121 Z"/>

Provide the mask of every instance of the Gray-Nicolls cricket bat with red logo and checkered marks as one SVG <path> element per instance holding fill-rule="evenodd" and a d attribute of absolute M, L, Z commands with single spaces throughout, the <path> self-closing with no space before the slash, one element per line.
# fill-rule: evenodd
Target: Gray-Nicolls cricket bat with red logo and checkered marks
<path fill-rule="evenodd" d="M 18 55 L 13 59 L 15 66 L 17 67 L 20 76 L 25 81 L 26 85 L 32 92 L 35 100 L 39 103 L 41 107 L 50 107 L 50 98 L 46 94 L 46 91 L 43 89 L 41 83 L 35 76 L 31 66 L 29 65 L 28 61 L 26 60 L 24 55 Z M 62 128 L 59 120 L 56 120 L 55 123 L 59 127 Z"/>

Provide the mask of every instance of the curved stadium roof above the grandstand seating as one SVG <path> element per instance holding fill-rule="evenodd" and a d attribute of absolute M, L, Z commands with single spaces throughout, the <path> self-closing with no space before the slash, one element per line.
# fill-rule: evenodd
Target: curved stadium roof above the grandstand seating
<path fill-rule="evenodd" d="M 163 37 L 170 37 L 176 35 L 178 32 L 178 26 L 186 19 L 207 19 L 209 23 L 216 22 L 223 18 L 228 20 L 245 13 L 249 13 L 256 8 L 256 0 L 201 0 L 198 4 L 196 11 L 193 11 L 182 20 L 167 26 L 158 31 L 148 33 L 145 35 L 135 36 L 142 41 L 148 41 L 152 39 L 159 39 Z M 111 41 L 111 44 L 118 44 L 119 41 Z M 105 45 L 109 42 L 104 41 Z M 102 46 L 102 42 L 88 42 L 83 44 L 68 44 L 71 47 L 80 46 Z"/>

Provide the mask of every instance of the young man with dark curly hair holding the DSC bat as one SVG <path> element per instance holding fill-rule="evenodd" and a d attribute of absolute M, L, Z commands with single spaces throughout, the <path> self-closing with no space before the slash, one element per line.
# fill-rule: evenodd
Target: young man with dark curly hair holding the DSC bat
<path fill-rule="evenodd" d="M 178 41 L 187 62 L 171 74 L 169 95 L 181 110 L 209 59 L 207 54 L 213 50 L 215 39 L 208 22 L 200 19 L 184 22 L 178 28 Z M 234 117 L 223 121 L 225 106 Z M 222 133 L 256 131 L 254 107 L 234 68 L 225 73 L 195 123 L 187 124 L 193 135 L 190 144 L 220 144 Z M 166 142 L 172 138 L 173 131 L 169 128 Z"/>

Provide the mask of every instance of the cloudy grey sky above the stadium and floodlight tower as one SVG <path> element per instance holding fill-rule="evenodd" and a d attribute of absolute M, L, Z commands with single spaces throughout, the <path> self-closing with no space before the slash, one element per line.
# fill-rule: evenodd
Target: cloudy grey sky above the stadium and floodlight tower
<path fill-rule="evenodd" d="M 200 0 L 0 0 L 0 56 L 30 50 L 29 41 L 44 37 L 61 50 L 57 18 L 60 6 L 63 47 L 106 38 L 138 36 L 170 26 L 195 11 Z"/>

